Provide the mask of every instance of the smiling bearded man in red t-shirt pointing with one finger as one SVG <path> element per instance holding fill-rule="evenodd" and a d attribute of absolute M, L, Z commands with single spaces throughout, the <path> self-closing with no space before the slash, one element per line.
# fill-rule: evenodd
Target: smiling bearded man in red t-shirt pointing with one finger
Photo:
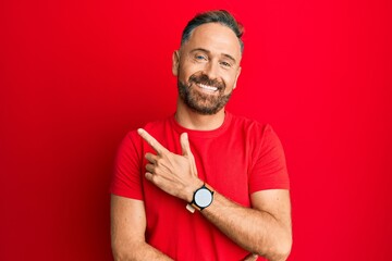
<path fill-rule="evenodd" d="M 112 192 L 115 260 L 285 260 L 289 177 L 269 125 L 224 110 L 243 42 L 226 11 L 195 16 L 173 53 L 174 115 L 131 132 Z M 261 258 L 259 259 L 261 260 Z"/>

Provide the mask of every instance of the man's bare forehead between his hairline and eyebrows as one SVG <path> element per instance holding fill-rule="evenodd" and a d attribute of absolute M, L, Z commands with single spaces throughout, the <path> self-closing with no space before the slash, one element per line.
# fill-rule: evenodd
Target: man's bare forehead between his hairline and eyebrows
<path fill-rule="evenodd" d="M 241 46 L 234 32 L 219 23 L 208 23 L 197 26 L 183 46 L 186 50 L 197 48 L 209 50 L 213 53 L 225 53 L 241 59 Z"/>

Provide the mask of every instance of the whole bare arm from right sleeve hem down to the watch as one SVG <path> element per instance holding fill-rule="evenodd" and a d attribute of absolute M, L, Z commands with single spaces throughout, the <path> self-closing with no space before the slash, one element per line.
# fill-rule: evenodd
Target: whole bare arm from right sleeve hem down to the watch
<path fill-rule="evenodd" d="M 201 214 L 249 252 L 269 260 L 285 260 L 292 245 L 290 195 L 270 189 L 250 196 L 253 208 L 238 206 L 215 192 Z"/>

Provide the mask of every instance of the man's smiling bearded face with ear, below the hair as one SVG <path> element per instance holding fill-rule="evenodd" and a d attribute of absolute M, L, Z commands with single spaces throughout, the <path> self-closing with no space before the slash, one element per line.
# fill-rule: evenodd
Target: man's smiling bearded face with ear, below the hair
<path fill-rule="evenodd" d="M 232 29 L 219 23 L 196 27 L 172 57 L 182 103 L 203 115 L 219 113 L 236 86 L 241 58 Z"/>

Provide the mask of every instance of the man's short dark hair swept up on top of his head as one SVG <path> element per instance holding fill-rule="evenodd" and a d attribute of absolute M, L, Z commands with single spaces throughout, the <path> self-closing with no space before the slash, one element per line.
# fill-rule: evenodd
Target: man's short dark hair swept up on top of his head
<path fill-rule="evenodd" d="M 244 51 L 244 42 L 241 39 L 241 36 L 244 34 L 243 26 L 234 18 L 234 16 L 225 10 L 209 11 L 205 13 L 197 14 L 193 20 L 191 20 L 186 27 L 183 30 L 181 45 L 189 40 L 192 32 L 203 24 L 207 23 L 219 23 L 221 25 L 228 26 L 234 32 L 238 38 L 241 52 Z"/>

